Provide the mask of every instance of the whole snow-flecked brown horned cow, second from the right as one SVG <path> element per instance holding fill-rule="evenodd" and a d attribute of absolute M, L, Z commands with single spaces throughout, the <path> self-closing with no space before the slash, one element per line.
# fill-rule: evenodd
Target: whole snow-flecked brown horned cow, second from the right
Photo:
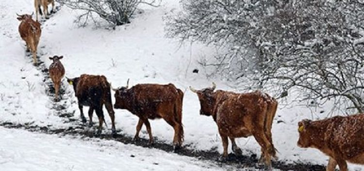
<path fill-rule="evenodd" d="M 200 101 L 200 114 L 213 116 L 224 147 L 223 158 L 228 156 L 228 138 L 232 142 L 232 151 L 241 155 L 235 138 L 254 136 L 262 147 L 261 161 L 265 161 L 271 169 L 271 157 L 276 157 L 272 142 L 272 123 L 277 111 L 278 102 L 265 93 L 255 91 L 252 93 L 233 93 L 217 90 L 213 87 L 195 90 Z"/>

